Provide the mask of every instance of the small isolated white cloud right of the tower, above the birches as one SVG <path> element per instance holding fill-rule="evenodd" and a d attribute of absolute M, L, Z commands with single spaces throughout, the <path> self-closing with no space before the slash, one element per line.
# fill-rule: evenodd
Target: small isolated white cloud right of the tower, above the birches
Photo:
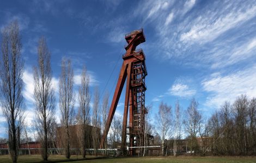
<path fill-rule="evenodd" d="M 190 97 L 196 94 L 196 90 L 190 89 L 186 84 L 175 82 L 168 90 L 168 94 L 172 96 Z"/>

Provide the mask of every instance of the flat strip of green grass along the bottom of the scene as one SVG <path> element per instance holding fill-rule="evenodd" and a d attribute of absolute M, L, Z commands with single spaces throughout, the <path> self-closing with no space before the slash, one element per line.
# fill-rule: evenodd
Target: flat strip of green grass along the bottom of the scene
<path fill-rule="evenodd" d="M 211 163 L 211 162 L 216 162 L 216 163 L 224 163 L 224 162 L 256 162 L 256 157 L 253 156 L 248 156 L 248 157 L 243 157 L 243 156 L 167 156 L 167 157 L 126 157 L 126 158 L 120 158 L 120 157 L 115 157 L 115 158 L 109 158 L 109 157 L 94 157 L 94 156 L 88 156 L 87 160 L 82 160 L 81 156 L 71 156 L 70 160 L 65 159 L 64 156 L 59 156 L 59 155 L 54 155 L 54 156 L 49 156 L 49 161 L 48 162 L 174 162 L 174 163 L 179 163 L 179 162 L 191 162 L 191 163 L 196 163 L 196 162 L 206 162 L 206 163 Z M 11 162 L 11 159 L 9 158 L 9 155 L 1 155 L 0 156 L 0 162 L 3 163 L 9 163 Z M 22 155 L 19 156 L 18 162 L 43 162 L 41 159 L 40 155 Z"/>

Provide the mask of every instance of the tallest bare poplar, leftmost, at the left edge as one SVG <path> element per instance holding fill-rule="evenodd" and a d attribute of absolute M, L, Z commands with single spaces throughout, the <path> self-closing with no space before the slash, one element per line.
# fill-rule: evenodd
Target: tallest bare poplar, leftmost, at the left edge
<path fill-rule="evenodd" d="M 7 121 L 11 159 L 17 162 L 19 135 L 25 111 L 22 96 L 24 62 L 21 57 L 22 43 L 17 21 L 11 22 L 3 29 L 1 46 L 1 105 Z"/>

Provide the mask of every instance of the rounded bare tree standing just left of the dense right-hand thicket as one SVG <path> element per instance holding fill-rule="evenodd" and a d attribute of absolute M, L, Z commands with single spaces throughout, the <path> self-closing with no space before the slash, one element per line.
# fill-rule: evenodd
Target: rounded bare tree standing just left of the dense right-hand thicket
<path fill-rule="evenodd" d="M 186 120 L 184 120 L 184 127 L 190 137 L 190 152 L 192 155 L 192 145 L 196 145 L 196 136 L 199 134 L 202 115 L 198 111 L 198 102 L 192 98 L 190 106 L 186 110 Z"/>

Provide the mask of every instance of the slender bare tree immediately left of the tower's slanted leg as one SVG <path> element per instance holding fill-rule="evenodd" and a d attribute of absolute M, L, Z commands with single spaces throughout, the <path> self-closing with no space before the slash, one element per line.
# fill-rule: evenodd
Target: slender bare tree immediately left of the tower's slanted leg
<path fill-rule="evenodd" d="M 102 102 L 102 124 L 103 124 L 102 128 L 103 129 L 105 127 L 105 124 L 107 123 L 107 116 L 109 112 L 108 98 L 109 98 L 109 94 L 108 92 L 106 92 Z M 106 140 L 105 140 L 105 153 L 107 154 L 107 133 L 106 133 Z"/>

